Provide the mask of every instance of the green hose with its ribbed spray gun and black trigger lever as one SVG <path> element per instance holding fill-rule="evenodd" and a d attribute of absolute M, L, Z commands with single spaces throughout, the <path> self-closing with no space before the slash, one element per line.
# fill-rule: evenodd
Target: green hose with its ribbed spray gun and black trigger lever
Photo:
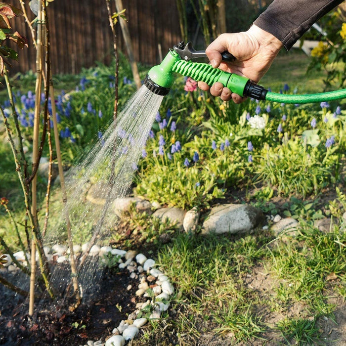
<path fill-rule="evenodd" d="M 235 60 L 235 57 L 229 52 L 223 52 L 221 55 L 223 61 Z M 242 97 L 248 96 L 257 100 L 302 104 L 346 98 L 346 89 L 303 95 L 271 92 L 249 78 L 213 68 L 208 63 L 192 61 L 206 57 L 205 50 L 195 50 L 191 42 L 186 45 L 179 42 L 173 46 L 173 49 L 170 49 L 161 64 L 149 70 L 144 85 L 155 94 L 167 95 L 174 82 L 173 74 L 179 73 L 185 77 L 191 77 L 197 82 L 205 82 L 209 86 L 220 82 L 224 87 L 228 87 L 232 92 Z"/>

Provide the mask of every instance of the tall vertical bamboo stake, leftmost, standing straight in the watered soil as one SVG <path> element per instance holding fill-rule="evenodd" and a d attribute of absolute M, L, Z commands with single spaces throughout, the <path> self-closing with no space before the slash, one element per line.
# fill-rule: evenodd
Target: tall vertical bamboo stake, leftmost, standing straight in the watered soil
<path fill-rule="evenodd" d="M 37 23 L 37 51 L 36 51 L 36 87 L 35 87 L 35 113 L 34 113 L 34 131 L 33 131 L 33 172 L 35 171 L 39 148 L 39 127 L 40 127 L 40 101 L 42 88 L 42 3 L 40 1 Z M 37 220 L 37 174 L 34 175 L 31 185 L 32 191 L 32 214 L 34 218 L 34 228 L 38 229 Z M 36 242 L 32 235 L 31 244 L 31 275 L 30 275 L 30 295 L 29 295 L 29 315 L 34 313 L 35 304 L 35 277 L 36 277 Z"/>

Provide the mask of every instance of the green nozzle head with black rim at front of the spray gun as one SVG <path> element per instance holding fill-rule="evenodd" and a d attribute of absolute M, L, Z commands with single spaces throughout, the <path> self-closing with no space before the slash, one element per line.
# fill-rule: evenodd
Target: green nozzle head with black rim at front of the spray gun
<path fill-rule="evenodd" d="M 167 95 L 174 82 L 173 66 L 180 59 L 179 54 L 171 49 L 161 64 L 149 70 L 144 85 L 155 94 Z"/>

